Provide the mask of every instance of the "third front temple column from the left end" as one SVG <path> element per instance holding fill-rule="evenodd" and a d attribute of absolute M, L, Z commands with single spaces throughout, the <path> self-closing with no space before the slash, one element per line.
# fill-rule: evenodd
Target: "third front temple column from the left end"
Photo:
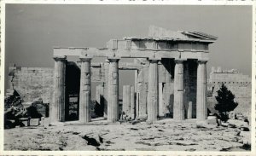
<path fill-rule="evenodd" d="M 119 59 L 108 58 L 108 121 L 116 122 L 119 114 Z"/>

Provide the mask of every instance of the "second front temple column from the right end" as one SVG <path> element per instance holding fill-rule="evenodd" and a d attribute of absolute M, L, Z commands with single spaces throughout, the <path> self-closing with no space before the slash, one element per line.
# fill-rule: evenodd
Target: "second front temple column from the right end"
<path fill-rule="evenodd" d="M 183 103 L 183 61 L 175 60 L 175 63 L 173 118 L 175 120 L 183 120 L 185 118 Z"/>

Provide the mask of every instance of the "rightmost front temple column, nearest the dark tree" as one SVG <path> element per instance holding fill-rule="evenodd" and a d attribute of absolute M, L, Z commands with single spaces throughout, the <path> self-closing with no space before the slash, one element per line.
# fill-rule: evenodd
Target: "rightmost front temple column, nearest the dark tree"
<path fill-rule="evenodd" d="M 198 61 L 196 87 L 196 118 L 207 119 L 207 61 Z"/>

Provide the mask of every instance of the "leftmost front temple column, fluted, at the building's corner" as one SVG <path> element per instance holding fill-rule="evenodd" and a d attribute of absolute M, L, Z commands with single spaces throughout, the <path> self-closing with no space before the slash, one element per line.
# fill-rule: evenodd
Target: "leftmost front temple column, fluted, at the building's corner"
<path fill-rule="evenodd" d="M 55 56 L 54 95 L 51 123 L 65 121 L 66 104 L 66 56 Z"/>

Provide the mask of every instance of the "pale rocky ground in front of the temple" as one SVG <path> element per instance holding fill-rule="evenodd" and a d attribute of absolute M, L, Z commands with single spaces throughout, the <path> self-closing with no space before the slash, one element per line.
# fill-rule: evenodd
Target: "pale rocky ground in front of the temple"
<path fill-rule="evenodd" d="M 18 127 L 4 130 L 4 150 L 245 151 L 250 131 L 232 124 L 201 125 L 172 119 L 155 124 Z"/>

